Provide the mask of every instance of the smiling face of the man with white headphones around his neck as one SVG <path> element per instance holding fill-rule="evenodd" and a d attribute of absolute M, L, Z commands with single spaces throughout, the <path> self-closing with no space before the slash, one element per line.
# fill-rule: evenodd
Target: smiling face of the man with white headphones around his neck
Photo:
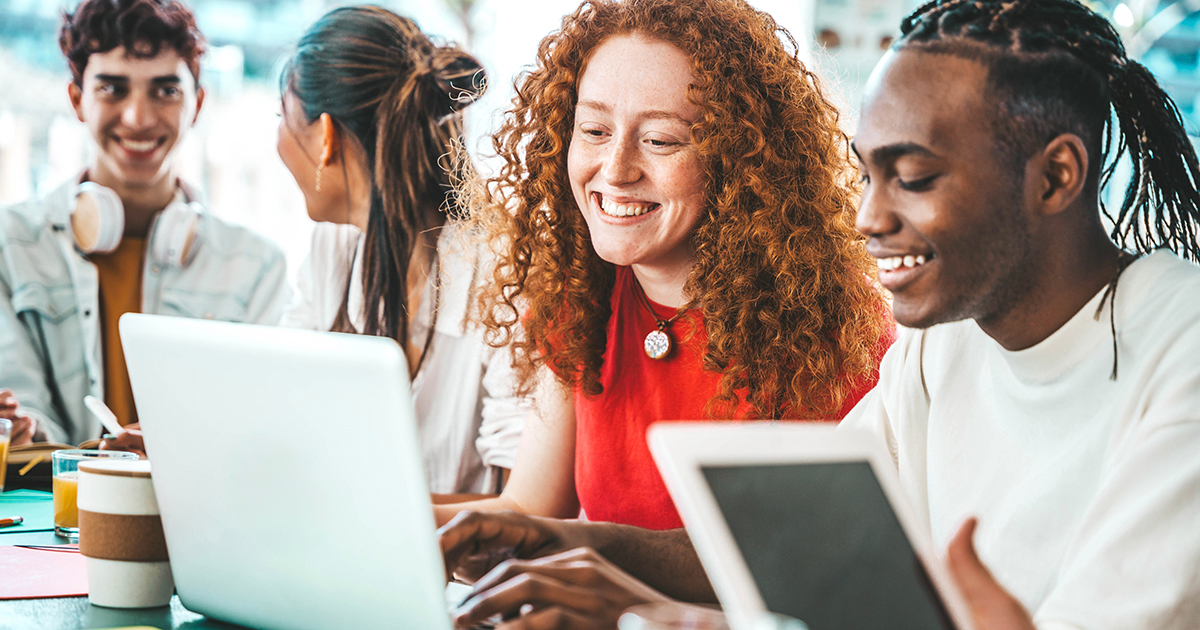
<path fill-rule="evenodd" d="M 108 186 L 146 186 L 168 176 L 168 157 L 204 101 L 187 62 L 170 47 L 154 58 L 125 48 L 88 58 L 71 104 L 100 149 L 91 176 Z"/>

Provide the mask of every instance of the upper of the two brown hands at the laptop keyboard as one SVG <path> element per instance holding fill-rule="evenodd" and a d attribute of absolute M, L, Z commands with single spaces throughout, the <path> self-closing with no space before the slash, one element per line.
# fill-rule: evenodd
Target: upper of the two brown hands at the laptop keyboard
<path fill-rule="evenodd" d="M 540 558 L 589 546 L 589 526 L 521 512 L 463 511 L 438 529 L 446 575 L 474 582 L 509 558 Z"/>

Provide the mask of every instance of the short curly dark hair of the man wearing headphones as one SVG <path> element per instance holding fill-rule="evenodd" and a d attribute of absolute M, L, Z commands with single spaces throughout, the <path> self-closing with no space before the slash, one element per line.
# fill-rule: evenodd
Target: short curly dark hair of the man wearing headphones
<path fill-rule="evenodd" d="M 175 0 L 84 0 L 74 13 L 62 13 L 59 48 L 67 56 L 71 77 L 83 85 L 88 58 L 118 47 L 139 59 L 158 56 L 169 46 L 200 80 L 204 36 L 196 17 Z"/>

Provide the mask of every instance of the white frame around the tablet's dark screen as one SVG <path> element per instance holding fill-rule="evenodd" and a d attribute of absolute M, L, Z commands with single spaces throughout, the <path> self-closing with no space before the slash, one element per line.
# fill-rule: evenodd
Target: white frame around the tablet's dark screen
<path fill-rule="evenodd" d="M 960 630 L 973 629 L 949 570 L 904 497 L 895 463 L 875 436 L 830 422 L 659 422 L 650 426 L 647 440 L 733 630 L 754 629 L 767 606 L 701 468 L 863 461 L 875 473 L 950 620 Z"/>

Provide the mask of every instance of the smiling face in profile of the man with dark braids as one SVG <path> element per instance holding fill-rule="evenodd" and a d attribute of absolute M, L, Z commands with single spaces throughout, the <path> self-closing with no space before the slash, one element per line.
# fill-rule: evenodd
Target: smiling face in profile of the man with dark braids
<path fill-rule="evenodd" d="M 986 78 L 979 62 L 904 49 L 868 82 L 858 230 L 905 326 L 988 325 L 1032 286 L 1024 172 L 995 150 Z"/>

